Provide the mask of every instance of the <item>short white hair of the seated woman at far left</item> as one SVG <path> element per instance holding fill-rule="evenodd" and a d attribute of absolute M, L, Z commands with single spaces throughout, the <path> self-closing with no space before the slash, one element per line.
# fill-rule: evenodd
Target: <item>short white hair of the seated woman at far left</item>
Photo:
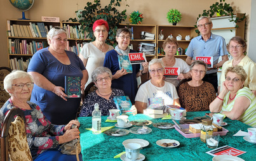
<path fill-rule="evenodd" d="M 29 78 L 31 82 L 34 82 L 32 76 L 30 74 L 28 74 L 27 72 L 24 72 L 22 70 L 13 70 L 10 74 L 6 75 L 6 77 L 4 78 L 5 91 L 7 93 L 9 93 L 8 89 L 12 88 L 11 85 L 13 84 L 13 81 L 15 79 L 21 79 L 21 78 Z M 11 96 L 11 94 L 10 94 L 10 96 Z"/>

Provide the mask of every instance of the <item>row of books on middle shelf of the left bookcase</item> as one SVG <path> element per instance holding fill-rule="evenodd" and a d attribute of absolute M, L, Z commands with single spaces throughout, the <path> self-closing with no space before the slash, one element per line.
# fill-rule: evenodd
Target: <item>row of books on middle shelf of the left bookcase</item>
<path fill-rule="evenodd" d="M 9 54 L 13 55 L 34 55 L 39 49 L 46 48 L 48 43 L 43 42 L 27 42 L 27 40 L 8 39 L 9 41 Z"/>

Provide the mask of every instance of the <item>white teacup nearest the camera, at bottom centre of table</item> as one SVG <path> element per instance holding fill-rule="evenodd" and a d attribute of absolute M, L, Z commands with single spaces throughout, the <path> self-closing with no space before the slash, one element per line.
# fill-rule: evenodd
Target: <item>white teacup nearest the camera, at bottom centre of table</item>
<path fill-rule="evenodd" d="M 140 156 L 141 145 L 138 143 L 125 144 L 126 158 L 129 160 L 136 160 Z"/>

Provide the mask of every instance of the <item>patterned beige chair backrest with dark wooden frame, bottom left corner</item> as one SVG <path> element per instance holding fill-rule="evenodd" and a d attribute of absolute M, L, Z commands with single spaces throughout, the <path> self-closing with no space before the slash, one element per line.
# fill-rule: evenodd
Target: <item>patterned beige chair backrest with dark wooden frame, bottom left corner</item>
<path fill-rule="evenodd" d="M 13 121 L 13 118 L 16 119 Z M 24 112 L 12 108 L 4 118 L 1 131 L 1 160 L 32 160 L 27 143 Z"/>

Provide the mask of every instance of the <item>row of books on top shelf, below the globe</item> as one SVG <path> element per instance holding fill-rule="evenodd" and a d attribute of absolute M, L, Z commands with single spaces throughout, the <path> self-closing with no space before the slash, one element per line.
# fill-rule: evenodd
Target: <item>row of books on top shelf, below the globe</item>
<path fill-rule="evenodd" d="M 29 25 L 10 25 L 10 20 L 7 23 L 8 36 L 13 37 L 47 37 L 48 31 L 53 27 L 50 25 L 50 29 L 44 25 L 43 22 L 32 23 Z"/>

